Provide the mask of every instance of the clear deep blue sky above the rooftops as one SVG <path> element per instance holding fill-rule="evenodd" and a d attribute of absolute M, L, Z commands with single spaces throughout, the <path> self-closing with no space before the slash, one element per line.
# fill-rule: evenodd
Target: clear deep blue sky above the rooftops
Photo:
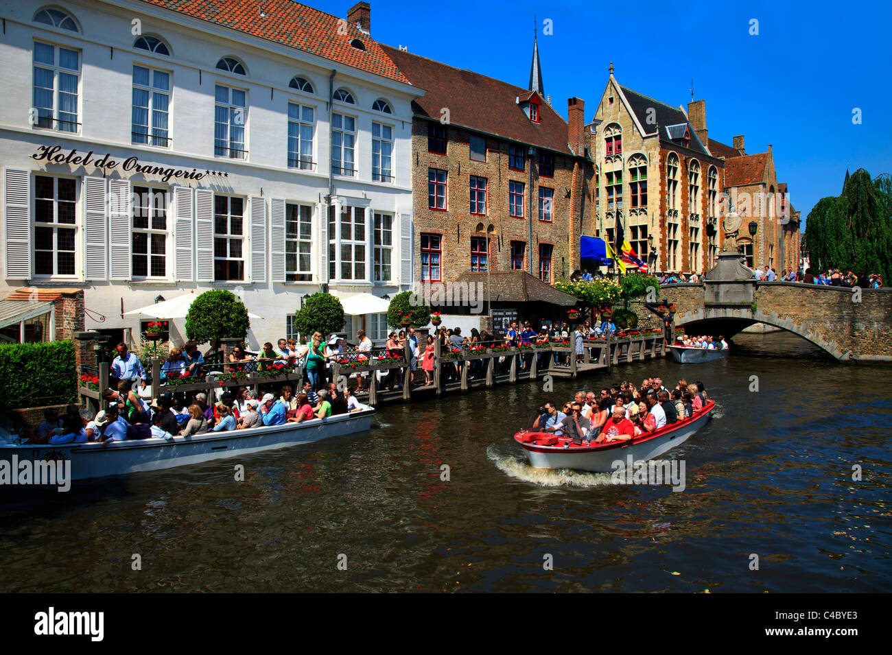
<path fill-rule="evenodd" d="M 354 4 L 304 2 L 343 17 Z M 892 173 L 892 3 L 369 3 L 377 41 L 518 86 L 529 80 L 535 16 L 545 92 L 565 119 L 574 95 L 593 118 L 610 61 L 620 84 L 673 106 L 686 106 L 693 78 L 710 138 L 745 135 L 750 153 L 772 143 L 803 222 L 838 195 L 847 166 Z"/>

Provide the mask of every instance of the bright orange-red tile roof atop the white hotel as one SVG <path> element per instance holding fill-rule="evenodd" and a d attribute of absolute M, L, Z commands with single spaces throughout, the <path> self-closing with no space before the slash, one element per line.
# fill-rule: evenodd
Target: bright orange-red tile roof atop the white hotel
<path fill-rule="evenodd" d="M 384 53 L 381 45 L 368 34 L 360 32 L 354 25 L 348 25 L 345 18 L 320 12 L 293 0 L 142 1 L 236 29 L 252 37 L 289 45 L 384 78 L 403 83 L 409 81 Z M 260 16 L 261 7 L 265 18 Z M 345 33 L 339 34 L 339 28 Z M 359 38 L 366 49 L 359 50 L 350 45 L 354 38 Z"/>

